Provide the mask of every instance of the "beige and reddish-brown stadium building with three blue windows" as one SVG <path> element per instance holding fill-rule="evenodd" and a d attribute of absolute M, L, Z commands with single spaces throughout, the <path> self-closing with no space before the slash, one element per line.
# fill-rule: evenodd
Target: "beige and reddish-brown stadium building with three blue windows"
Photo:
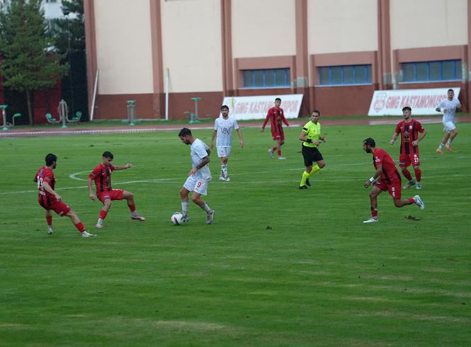
<path fill-rule="evenodd" d="M 373 91 L 459 86 L 471 0 L 85 0 L 94 118 L 218 114 L 225 96 L 304 95 L 300 116 L 365 115 Z M 96 96 L 94 91 L 96 88 Z M 94 103 L 93 103 L 94 100 Z M 283 107 L 283 105 L 282 105 Z"/>

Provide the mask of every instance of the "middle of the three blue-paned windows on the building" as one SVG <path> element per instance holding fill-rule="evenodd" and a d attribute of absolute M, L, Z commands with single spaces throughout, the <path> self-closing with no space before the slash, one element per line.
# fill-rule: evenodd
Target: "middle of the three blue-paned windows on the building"
<path fill-rule="evenodd" d="M 319 84 L 371 84 L 371 65 L 319 67 Z"/>

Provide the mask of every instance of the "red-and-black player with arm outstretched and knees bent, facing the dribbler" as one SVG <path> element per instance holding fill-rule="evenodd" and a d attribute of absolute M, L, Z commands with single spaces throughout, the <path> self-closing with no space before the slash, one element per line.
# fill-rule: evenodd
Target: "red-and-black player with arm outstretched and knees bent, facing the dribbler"
<path fill-rule="evenodd" d="M 146 220 L 144 217 L 141 217 L 136 212 L 136 205 L 134 203 L 134 195 L 127 190 L 122 189 L 113 189 L 111 188 L 111 172 L 115 170 L 123 170 L 129 169 L 132 167 L 131 164 L 126 164 L 125 166 L 113 166 L 111 162 L 113 161 L 113 154 L 111 152 L 104 152 L 103 153 L 103 161 L 101 164 L 98 164 L 91 174 L 89 175 L 89 179 L 87 184 L 89 186 L 90 198 L 91 200 L 98 200 L 103 203 L 103 209 L 100 212 L 100 217 L 98 217 L 98 223 L 96 223 L 95 227 L 103 228 L 103 220 L 105 219 L 106 215 L 108 214 L 108 210 L 111 207 L 112 200 L 127 200 L 127 206 L 131 210 L 131 219 L 132 220 Z M 91 188 L 91 181 L 95 181 L 96 186 L 96 197 L 93 194 L 93 189 Z"/>

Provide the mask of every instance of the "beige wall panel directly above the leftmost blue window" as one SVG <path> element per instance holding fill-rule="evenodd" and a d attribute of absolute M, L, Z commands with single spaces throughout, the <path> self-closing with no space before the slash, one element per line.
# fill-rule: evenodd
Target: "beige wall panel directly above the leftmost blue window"
<path fill-rule="evenodd" d="M 232 0 L 234 58 L 295 55 L 295 31 L 295 0 Z"/>

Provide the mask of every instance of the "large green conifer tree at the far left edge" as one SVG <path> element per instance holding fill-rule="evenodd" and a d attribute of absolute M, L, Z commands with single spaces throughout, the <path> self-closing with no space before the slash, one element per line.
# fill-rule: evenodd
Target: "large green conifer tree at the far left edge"
<path fill-rule="evenodd" d="M 54 38 L 47 36 L 41 0 L 11 0 L 0 11 L 0 73 L 4 86 L 25 91 L 30 125 L 34 125 L 33 91 L 54 86 L 67 75 L 69 64 L 59 64 Z"/>

